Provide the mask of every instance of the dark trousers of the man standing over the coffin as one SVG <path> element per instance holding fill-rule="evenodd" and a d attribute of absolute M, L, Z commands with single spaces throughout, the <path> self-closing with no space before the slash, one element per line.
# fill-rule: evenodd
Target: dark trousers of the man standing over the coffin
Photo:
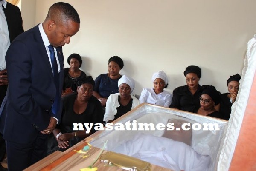
<path fill-rule="evenodd" d="M 46 157 L 48 134 L 41 134 L 34 142 L 21 144 L 6 141 L 8 171 L 21 171 Z"/>

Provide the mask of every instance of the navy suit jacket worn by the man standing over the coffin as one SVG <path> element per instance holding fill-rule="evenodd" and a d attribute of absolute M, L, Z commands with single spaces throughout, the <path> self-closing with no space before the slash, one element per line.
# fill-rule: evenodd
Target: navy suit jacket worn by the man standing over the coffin
<path fill-rule="evenodd" d="M 35 140 L 38 131 L 48 127 L 50 117 L 61 118 L 51 111 L 57 91 L 63 85 L 62 48 L 56 48 L 61 71 L 59 88 L 55 87 L 52 68 L 38 26 L 15 38 L 6 53 L 9 85 L 1 106 L 0 131 L 3 138 L 18 143 Z"/>

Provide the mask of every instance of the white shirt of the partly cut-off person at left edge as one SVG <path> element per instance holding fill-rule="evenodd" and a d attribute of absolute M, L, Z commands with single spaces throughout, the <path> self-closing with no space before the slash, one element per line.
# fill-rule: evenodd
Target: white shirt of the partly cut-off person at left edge
<path fill-rule="evenodd" d="M 10 46 L 10 38 L 3 7 L 6 8 L 6 0 L 0 2 L 0 71 L 6 68 L 5 55 Z"/>

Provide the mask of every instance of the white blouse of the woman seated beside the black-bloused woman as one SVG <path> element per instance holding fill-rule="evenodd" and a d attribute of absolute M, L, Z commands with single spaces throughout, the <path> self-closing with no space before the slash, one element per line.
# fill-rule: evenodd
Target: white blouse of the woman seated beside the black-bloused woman
<path fill-rule="evenodd" d="M 162 93 L 156 94 L 153 88 L 143 88 L 139 100 L 140 103 L 145 102 L 169 108 L 169 106 L 172 103 L 172 94 L 167 91 L 163 91 Z"/>

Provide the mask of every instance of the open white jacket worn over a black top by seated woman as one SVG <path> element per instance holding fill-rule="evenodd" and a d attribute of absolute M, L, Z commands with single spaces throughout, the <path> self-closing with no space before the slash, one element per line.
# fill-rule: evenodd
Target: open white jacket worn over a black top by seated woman
<path fill-rule="evenodd" d="M 110 94 L 108 97 L 108 100 L 106 102 L 106 113 L 104 115 L 104 121 L 107 123 L 109 120 L 114 120 L 115 115 L 117 113 L 116 108 L 120 106 L 118 102 L 118 96 L 119 93 L 115 94 Z M 131 95 L 132 100 L 132 105 L 131 109 L 135 108 L 137 105 L 140 105 L 140 100 L 138 100 L 136 97 Z"/>

